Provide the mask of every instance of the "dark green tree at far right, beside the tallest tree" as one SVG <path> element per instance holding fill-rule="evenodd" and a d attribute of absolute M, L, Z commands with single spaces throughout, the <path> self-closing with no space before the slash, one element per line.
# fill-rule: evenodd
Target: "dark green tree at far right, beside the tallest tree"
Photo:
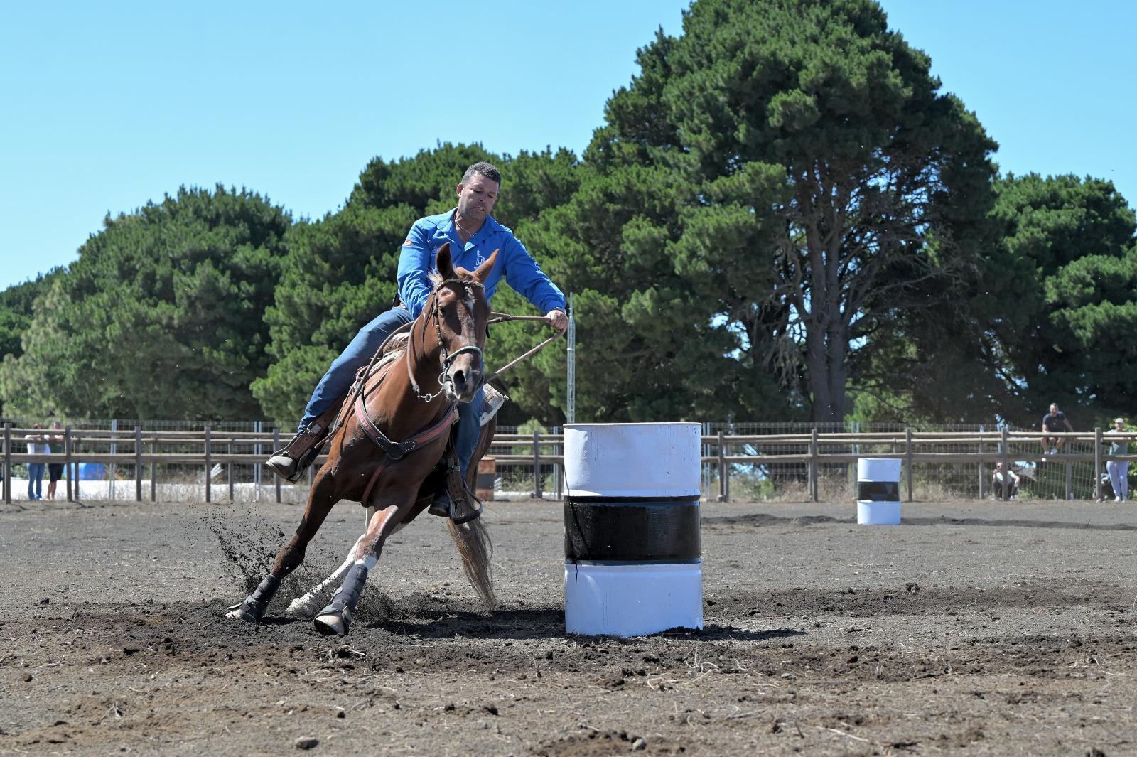
<path fill-rule="evenodd" d="M 1012 175 L 996 192 L 1001 242 L 980 305 L 1007 415 L 1034 425 L 1052 401 L 1124 410 L 1137 365 L 1132 209 L 1090 177 Z"/>

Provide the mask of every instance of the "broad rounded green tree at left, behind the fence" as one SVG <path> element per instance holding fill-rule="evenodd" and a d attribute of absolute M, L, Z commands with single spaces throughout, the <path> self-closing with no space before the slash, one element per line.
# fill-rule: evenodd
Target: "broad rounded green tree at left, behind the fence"
<path fill-rule="evenodd" d="M 290 218 L 246 190 L 185 189 L 109 216 L 35 301 L 0 392 L 70 416 L 250 418 Z"/>

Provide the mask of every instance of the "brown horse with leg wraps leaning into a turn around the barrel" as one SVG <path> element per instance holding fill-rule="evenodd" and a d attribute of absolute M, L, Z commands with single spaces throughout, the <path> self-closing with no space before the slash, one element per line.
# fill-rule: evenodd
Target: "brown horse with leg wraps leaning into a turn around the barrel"
<path fill-rule="evenodd" d="M 271 573 L 241 605 L 230 608 L 227 617 L 260 621 L 281 581 L 304 560 L 305 549 L 332 506 L 348 499 L 368 507 L 367 526 L 352 547 L 347 579 L 332 604 L 315 618 L 322 633 L 348 632 L 383 543 L 430 506 L 431 497 L 422 496 L 429 492 L 421 490 L 446 449 L 457 402 L 471 401 L 482 384 L 482 348 L 490 313 L 484 282 L 496 259 L 497 251 L 473 273 L 456 269 L 449 243 L 442 244 L 435 260 L 435 288 L 410 326 L 405 358 L 367 376 L 358 399 L 343 408 L 346 421 L 332 436 L 327 461 L 315 476 L 296 534 L 276 555 Z M 438 385 L 433 394 L 424 393 L 424 389 Z M 492 425 L 483 429 L 475 461 L 491 434 Z M 472 463 L 471 475 L 475 469 Z M 463 523 L 447 518 L 447 525 L 466 576 L 492 608 L 492 548 L 481 518 Z"/>

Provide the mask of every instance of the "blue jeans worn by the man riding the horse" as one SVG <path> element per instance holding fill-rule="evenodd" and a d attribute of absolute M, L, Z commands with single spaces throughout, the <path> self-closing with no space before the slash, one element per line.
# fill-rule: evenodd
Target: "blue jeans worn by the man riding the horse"
<path fill-rule="evenodd" d="M 300 419 L 298 431 L 307 429 L 308 424 L 326 413 L 333 402 L 347 394 L 348 390 L 351 389 L 351 382 L 355 381 L 356 372 L 367 365 L 371 356 L 375 353 L 383 340 L 390 336 L 396 328 L 412 321 L 410 313 L 406 308 L 398 307 L 391 308 L 360 328 L 351 343 L 335 358 L 327 373 L 316 384 L 316 390 L 312 393 L 312 399 L 308 400 L 308 406 L 304 410 L 304 418 Z M 474 448 L 478 447 L 482 402 L 482 390 L 479 388 L 473 400 L 458 405 L 458 433 L 454 451 L 458 456 L 463 476 L 466 475 L 470 460 L 474 456 Z M 42 475 L 42 471 L 40 475 Z"/>

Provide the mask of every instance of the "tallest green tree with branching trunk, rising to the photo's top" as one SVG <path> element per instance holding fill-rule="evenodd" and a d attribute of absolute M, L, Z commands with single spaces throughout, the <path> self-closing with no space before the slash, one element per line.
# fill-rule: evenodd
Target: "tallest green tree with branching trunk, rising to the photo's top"
<path fill-rule="evenodd" d="M 656 233 L 686 309 L 843 421 L 873 334 L 976 259 L 994 142 L 871 0 L 696 0 L 639 64 L 589 156 L 649 167 L 671 225 L 608 239 Z"/>

